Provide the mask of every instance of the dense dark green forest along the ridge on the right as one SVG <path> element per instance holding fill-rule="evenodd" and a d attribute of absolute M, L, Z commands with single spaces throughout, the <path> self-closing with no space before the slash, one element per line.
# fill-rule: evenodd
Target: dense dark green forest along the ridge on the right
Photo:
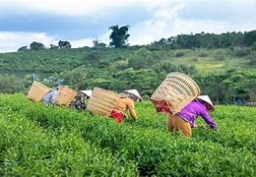
<path fill-rule="evenodd" d="M 152 47 L 165 49 L 191 49 L 191 48 L 227 48 L 227 47 L 255 47 L 256 30 L 245 32 L 216 33 L 190 33 L 178 34 L 168 38 L 161 38 L 150 44 Z"/>

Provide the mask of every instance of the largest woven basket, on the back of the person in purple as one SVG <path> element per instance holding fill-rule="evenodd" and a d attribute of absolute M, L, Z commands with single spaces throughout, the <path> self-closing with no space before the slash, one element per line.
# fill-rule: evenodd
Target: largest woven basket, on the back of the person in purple
<path fill-rule="evenodd" d="M 151 96 L 158 112 L 176 114 L 200 94 L 197 84 L 188 76 L 173 72 Z"/>

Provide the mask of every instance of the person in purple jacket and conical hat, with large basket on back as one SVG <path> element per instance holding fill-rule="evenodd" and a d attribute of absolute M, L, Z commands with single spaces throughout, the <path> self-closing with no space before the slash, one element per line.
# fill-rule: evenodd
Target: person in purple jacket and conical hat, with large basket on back
<path fill-rule="evenodd" d="M 173 72 L 166 76 L 160 87 L 151 96 L 158 112 L 167 114 L 167 128 L 170 132 L 181 131 L 183 136 L 192 137 L 191 128 L 197 127 L 196 119 L 201 116 L 211 129 L 217 129 L 209 110 L 214 105 L 208 95 L 188 76 Z"/>

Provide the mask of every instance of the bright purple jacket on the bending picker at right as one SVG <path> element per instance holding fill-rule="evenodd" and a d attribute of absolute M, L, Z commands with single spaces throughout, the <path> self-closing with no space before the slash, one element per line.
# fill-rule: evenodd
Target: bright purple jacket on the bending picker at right
<path fill-rule="evenodd" d="M 201 116 L 212 129 L 217 127 L 216 123 L 207 112 L 205 105 L 198 100 L 193 100 L 188 105 L 186 105 L 178 113 L 178 116 L 180 116 L 185 121 L 188 121 L 191 127 L 194 127 L 198 116 Z"/>

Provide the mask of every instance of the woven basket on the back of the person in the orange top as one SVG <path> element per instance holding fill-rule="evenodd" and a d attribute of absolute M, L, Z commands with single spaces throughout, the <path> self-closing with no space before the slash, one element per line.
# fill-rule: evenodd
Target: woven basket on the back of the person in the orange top
<path fill-rule="evenodd" d="M 120 96 L 118 94 L 109 90 L 95 88 L 88 101 L 87 110 L 94 114 L 110 116 L 110 113 L 119 98 Z"/>

